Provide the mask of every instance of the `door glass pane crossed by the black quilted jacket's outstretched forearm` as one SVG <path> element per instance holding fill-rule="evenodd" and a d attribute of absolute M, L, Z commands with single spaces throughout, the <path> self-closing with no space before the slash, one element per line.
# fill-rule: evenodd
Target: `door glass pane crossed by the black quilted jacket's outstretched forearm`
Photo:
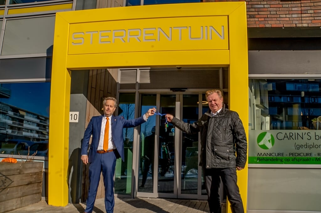
<path fill-rule="evenodd" d="M 186 123 L 198 120 L 198 95 L 183 95 L 183 117 Z M 182 194 L 197 194 L 198 135 L 183 132 L 182 141 Z"/>

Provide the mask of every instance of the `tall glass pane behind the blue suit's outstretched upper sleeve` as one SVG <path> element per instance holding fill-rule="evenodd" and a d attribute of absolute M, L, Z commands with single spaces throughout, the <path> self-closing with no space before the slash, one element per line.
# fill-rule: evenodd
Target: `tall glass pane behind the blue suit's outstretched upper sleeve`
<path fill-rule="evenodd" d="M 135 93 L 119 93 L 118 115 L 126 120 L 135 118 Z M 116 160 L 115 193 L 131 194 L 134 128 L 124 128 L 123 136 L 125 162 L 120 158 Z"/>

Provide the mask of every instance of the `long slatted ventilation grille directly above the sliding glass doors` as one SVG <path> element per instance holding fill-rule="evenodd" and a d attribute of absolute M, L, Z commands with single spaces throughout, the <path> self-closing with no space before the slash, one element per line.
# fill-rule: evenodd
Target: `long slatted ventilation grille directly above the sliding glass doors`
<path fill-rule="evenodd" d="M 141 70 L 140 89 L 219 88 L 219 68 L 156 68 Z"/>

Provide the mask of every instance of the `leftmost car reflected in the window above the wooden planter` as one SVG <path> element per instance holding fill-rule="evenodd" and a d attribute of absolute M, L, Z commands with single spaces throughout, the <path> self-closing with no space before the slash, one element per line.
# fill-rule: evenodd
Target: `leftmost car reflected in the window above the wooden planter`
<path fill-rule="evenodd" d="M 19 139 L 0 141 L 0 154 L 21 154 L 25 151 L 28 153 L 28 147 L 33 144 L 32 141 Z"/>

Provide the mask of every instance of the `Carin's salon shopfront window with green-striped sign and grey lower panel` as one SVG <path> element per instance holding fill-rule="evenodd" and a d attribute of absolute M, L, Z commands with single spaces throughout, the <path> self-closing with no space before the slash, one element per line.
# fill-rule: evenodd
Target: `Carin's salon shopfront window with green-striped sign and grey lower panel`
<path fill-rule="evenodd" d="M 249 209 L 320 210 L 320 85 L 320 79 L 249 80 Z"/>

